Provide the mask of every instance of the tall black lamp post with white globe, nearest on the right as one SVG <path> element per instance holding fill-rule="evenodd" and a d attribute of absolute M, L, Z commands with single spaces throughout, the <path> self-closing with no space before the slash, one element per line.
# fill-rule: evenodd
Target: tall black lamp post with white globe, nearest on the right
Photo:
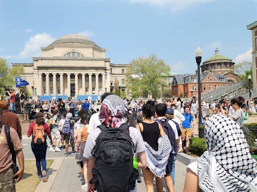
<path fill-rule="evenodd" d="M 195 49 L 195 59 L 197 63 L 197 76 L 198 76 L 198 118 L 199 118 L 199 126 L 202 124 L 202 106 L 201 106 L 201 74 L 200 74 L 200 63 L 202 59 L 202 49 L 200 46 L 197 46 Z"/>

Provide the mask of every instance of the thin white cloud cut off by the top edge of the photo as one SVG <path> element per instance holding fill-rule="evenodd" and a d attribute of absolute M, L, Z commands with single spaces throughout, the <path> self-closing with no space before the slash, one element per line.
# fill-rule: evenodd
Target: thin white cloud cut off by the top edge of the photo
<path fill-rule="evenodd" d="M 189 5 L 211 2 L 214 0 L 130 0 L 133 3 L 147 3 L 157 6 L 171 6 L 173 11 L 181 10 Z"/>

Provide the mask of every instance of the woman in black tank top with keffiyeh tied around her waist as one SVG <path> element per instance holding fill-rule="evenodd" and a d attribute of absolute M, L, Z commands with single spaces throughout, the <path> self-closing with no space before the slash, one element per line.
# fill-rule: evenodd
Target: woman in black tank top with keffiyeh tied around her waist
<path fill-rule="evenodd" d="M 155 115 L 153 102 L 147 101 L 147 103 L 143 105 L 142 111 L 144 118 L 142 123 L 137 125 L 137 128 L 141 132 L 147 147 L 147 168 L 142 169 L 145 184 L 147 191 L 153 192 L 154 178 L 156 177 L 157 191 L 163 191 L 162 178 L 166 173 L 166 166 L 171 151 L 170 140 L 164 133 L 162 125 L 153 120 L 153 116 Z M 164 137 L 164 139 L 168 140 L 167 146 L 165 144 L 159 146 L 158 140 L 160 137 Z M 156 168 L 157 164 L 158 169 Z"/>

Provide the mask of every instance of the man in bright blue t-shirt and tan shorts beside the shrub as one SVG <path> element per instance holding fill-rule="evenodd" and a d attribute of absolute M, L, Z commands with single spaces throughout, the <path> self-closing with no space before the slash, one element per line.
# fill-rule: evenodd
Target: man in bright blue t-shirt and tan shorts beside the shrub
<path fill-rule="evenodd" d="M 182 130 L 181 130 L 181 138 L 182 138 L 182 145 L 184 140 L 186 139 L 186 152 L 189 149 L 189 138 L 191 135 L 194 134 L 194 124 L 193 124 L 193 116 L 189 112 L 189 106 L 184 106 L 184 112 L 182 113 L 185 117 L 185 120 L 182 122 Z"/>

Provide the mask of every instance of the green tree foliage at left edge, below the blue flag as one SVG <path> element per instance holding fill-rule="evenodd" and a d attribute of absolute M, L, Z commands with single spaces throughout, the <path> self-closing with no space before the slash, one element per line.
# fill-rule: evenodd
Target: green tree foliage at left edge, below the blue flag
<path fill-rule="evenodd" d="M 0 91 L 4 92 L 4 87 L 12 87 L 15 85 L 15 77 L 23 74 L 24 68 L 22 65 L 8 66 L 5 59 L 0 58 Z"/>

